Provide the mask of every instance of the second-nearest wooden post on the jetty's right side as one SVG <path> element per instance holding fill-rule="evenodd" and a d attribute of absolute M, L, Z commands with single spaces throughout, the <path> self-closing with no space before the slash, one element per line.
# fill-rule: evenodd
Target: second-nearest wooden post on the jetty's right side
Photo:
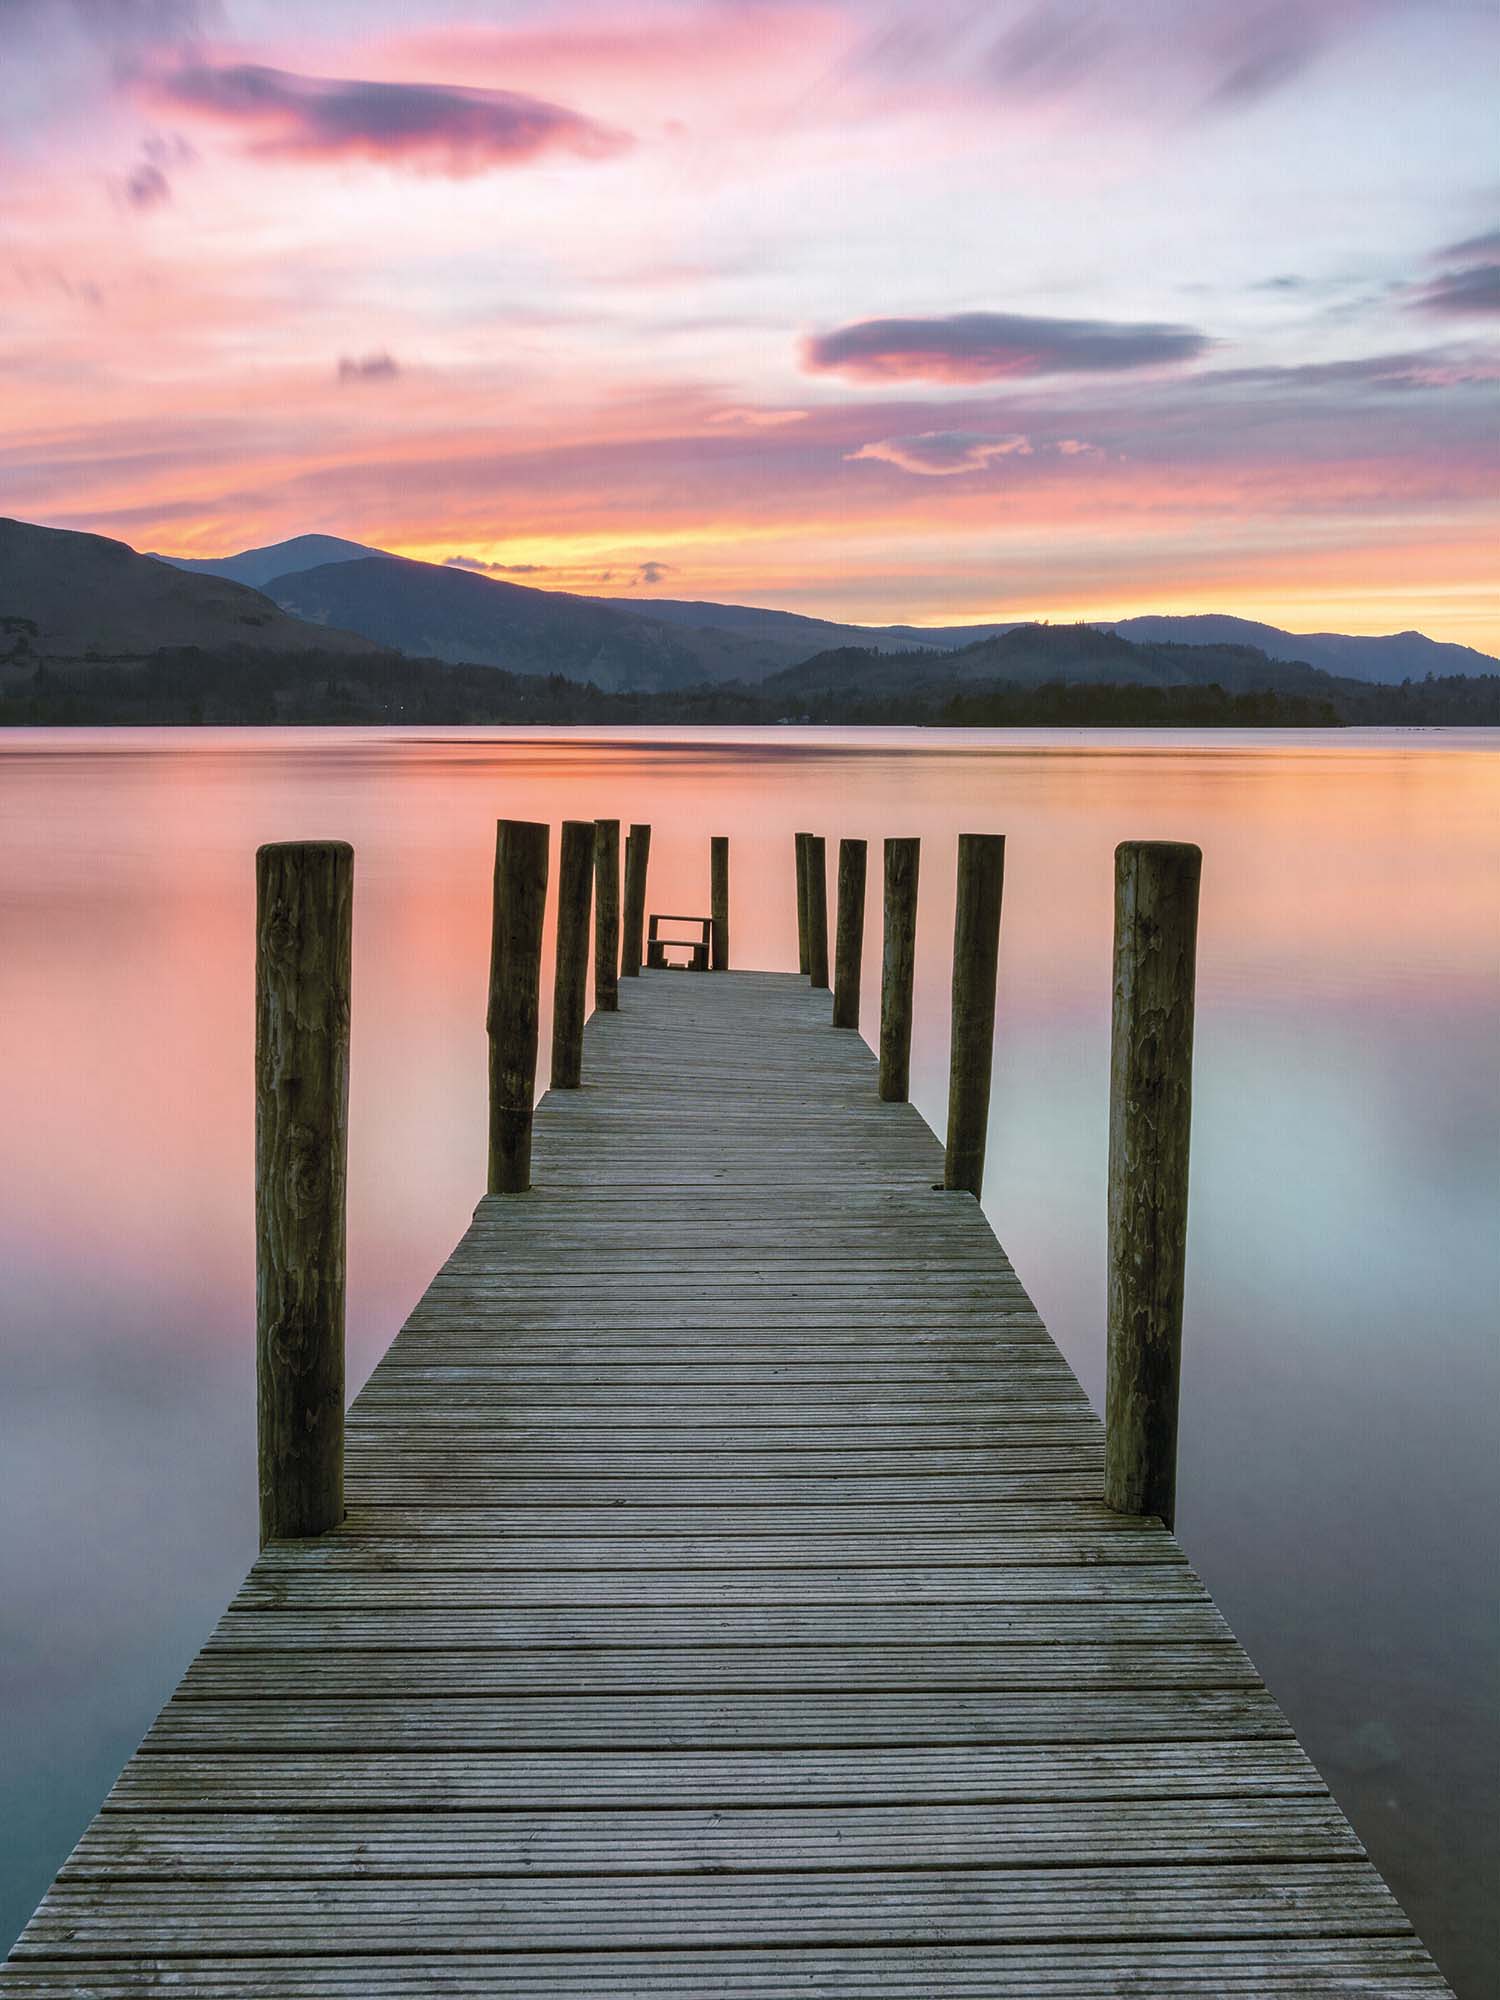
<path fill-rule="evenodd" d="M 948 1150 L 944 1188 L 984 1186 L 994 1070 L 994 980 L 1000 964 L 1000 890 L 1006 878 L 1004 834 L 958 836 L 954 904 L 952 1054 L 948 1062 Z"/>

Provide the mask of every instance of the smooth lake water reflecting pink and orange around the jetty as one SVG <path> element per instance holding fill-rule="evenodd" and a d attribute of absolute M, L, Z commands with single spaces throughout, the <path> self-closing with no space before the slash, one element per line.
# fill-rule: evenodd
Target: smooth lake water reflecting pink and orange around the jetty
<path fill-rule="evenodd" d="M 1110 856 L 1200 842 L 1178 1530 L 1494 1992 L 1500 732 L 0 734 L 0 1942 L 254 1556 L 254 848 L 356 848 L 354 1388 L 482 1192 L 498 814 L 650 820 L 656 910 L 728 834 L 774 968 L 796 826 L 920 834 L 938 1130 L 954 842 L 1004 832 L 984 1206 L 1096 1404 Z"/>

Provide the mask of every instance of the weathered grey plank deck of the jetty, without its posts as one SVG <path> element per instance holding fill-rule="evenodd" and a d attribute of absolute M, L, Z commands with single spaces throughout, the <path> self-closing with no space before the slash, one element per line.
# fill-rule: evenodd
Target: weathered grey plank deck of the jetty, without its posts
<path fill-rule="evenodd" d="M 632 972 L 6 2000 L 1446 1992 L 832 994 Z"/>

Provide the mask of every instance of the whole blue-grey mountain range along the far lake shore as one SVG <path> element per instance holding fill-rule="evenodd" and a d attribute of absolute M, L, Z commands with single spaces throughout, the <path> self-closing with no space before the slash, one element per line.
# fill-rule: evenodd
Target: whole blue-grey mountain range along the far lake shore
<path fill-rule="evenodd" d="M 1322 660 L 1308 660 L 1312 652 Z M 242 662 L 238 682 L 234 662 Z M 382 662 L 412 662 L 420 674 L 402 676 Z M 1432 720 L 1454 712 L 1482 720 L 1468 704 L 1494 702 L 1498 682 L 1484 676 L 1500 670 L 1486 654 L 1422 634 L 1298 636 L 1228 616 L 866 628 L 742 604 L 536 590 L 336 536 L 298 536 L 222 562 L 194 558 L 188 568 L 104 536 L 0 522 L 0 692 L 28 698 L 40 672 L 66 670 L 68 686 L 82 688 L 82 676 L 94 702 L 100 674 L 144 666 L 150 672 L 132 682 L 140 702 L 170 696 L 190 710 L 198 684 L 212 684 L 216 700 L 236 684 L 254 686 L 254 714 L 270 720 L 288 702 L 308 712 L 350 700 L 336 690 L 356 682 L 366 708 L 380 712 L 400 708 L 420 684 L 424 716 L 440 718 L 444 706 L 488 716 L 500 702 L 484 686 L 494 670 L 508 684 L 554 690 L 538 700 L 568 714 L 594 688 L 610 700 L 640 698 L 642 714 L 664 718 L 676 700 L 684 716 L 702 712 L 704 720 L 808 712 L 836 720 L 854 710 L 870 718 L 888 710 L 898 720 L 906 710 L 968 712 L 1002 688 L 1026 696 L 1058 686 L 1080 694 L 1216 688 L 1226 698 L 1322 704 L 1330 720 L 1380 720 L 1362 690 L 1374 694 L 1400 672 L 1418 684 L 1432 674 L 1444 686 L 1468 676 L 1472 696 L 1434 698 Z M 460 670 L 470 676 L 466 692 L 452 682 L 444 694 L 444 674 Z M 532 696 L 504 700 L 528 714 L 536 708 Z M 1406 716 L 1410 704 L 1396 712 Z"/>

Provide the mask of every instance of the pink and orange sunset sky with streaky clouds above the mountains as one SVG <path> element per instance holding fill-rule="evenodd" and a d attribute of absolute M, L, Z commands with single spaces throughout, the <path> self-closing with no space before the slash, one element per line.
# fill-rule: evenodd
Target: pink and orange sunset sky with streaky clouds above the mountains
<path fill-rule="evenodd" d="M 0 512 L 1500 652 L 1492 0 L 0 0 Z"/>

